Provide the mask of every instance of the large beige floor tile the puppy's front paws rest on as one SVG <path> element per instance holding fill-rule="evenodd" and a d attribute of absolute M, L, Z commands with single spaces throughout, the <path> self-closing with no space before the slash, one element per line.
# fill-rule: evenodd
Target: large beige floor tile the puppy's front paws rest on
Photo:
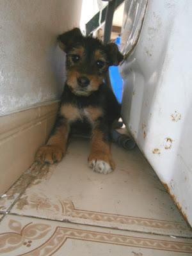
<path fill-rule="evenodd" d="M 192 236 L 170 196 L 138 148 L 113 145 L 116 170 L 87 165 L 88 141 L 72 140 L 67 156 L 36 176 L 12 212 L 124 230 Z"/>

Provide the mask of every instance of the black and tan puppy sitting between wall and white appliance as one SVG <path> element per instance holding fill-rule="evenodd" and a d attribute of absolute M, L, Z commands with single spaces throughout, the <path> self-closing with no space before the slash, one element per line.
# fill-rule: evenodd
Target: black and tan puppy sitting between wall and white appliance
<path fill-rule="evenodd" d="M 51 137 L 36 153 L 36 161 L 61 161 L 69 134 L 90 131 L 88 163 L 95 172 L 109 173 L 115 169 L 109 134 L 120 116 L 120 106 L 104 77 L 109 66 L 118 65 L 123 56 L 115 44 L 103 45 L 97 38 L 83 36 L 78 28 L 58 36 L 58 42 L 67 54 L 67 81 Z"/>

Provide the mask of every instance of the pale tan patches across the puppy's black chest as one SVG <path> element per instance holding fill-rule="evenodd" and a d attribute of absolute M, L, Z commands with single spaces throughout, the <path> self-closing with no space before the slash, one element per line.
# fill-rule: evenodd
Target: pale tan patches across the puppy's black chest
<path fill-rule="evenodd" d="M 95 106 L 88 106 L 86 108 L 77 108 L 72 104 L 64 104 L 61 106 L 60 114 L 67 118 L 68 122 L 75 122 L 76 120 L 88 119 L 91 123 L 95 122 L 103 115 L 101 108 Z"/>

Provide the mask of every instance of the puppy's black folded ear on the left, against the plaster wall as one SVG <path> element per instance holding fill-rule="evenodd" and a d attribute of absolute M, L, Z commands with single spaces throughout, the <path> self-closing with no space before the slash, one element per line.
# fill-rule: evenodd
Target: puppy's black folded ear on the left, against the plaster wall
<path fill-rule="evenodd" d="M 79 36 L 83 36 L 81 34 L 81 30 L 79 28 L 74 28 L 70 31 L 63 33 L 62 35 L 59 35 L 58 36 L 58 44 L 60 45 L 60 48 L 66 52 L 67 48 L 70 47 L 70 45 L 73 42 L 76 42 L 76 39 Z"/>

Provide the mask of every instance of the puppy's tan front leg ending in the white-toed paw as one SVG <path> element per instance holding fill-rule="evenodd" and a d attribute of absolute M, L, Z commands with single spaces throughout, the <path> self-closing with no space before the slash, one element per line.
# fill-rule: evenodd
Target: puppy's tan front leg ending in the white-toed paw
<path fill-rule="evenodd" d="M 88 163 L 90 168 L 99 173 L 107 174 L 115 169 L 115 163 L 111 156 L 107 125 L 100 124 L 93 128 Z"/>

